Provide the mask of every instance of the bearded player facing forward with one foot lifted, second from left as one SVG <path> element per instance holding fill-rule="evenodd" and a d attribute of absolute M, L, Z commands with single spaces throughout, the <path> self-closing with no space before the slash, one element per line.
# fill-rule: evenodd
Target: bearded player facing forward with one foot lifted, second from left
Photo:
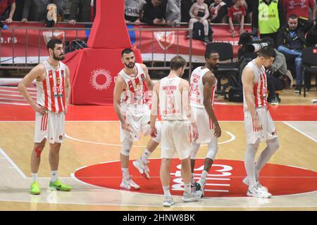
<path fill-rule="evenodd" d="M 153 82 L 149 77 L 147 66 L 135 63 L 135 53 L 131 49 L 122 51 L 121 60 L 125 68 L 119 72 L 113 90 L 113 106 L 120 120 L 120 141 L 122 142 L 120 162 L 123 180 L 120 187 L 137 190 L 140 187 L 132 181 L 129 174 L 129 155 L 133 142 L 139 141 L 140 134 L 144 136 L 149 134 L 151 111 L 146 103 L 145 86 L 152 90 Z M 149 168 L 147 167 L 149 161 L 147 159 L 159 145 L 160 139 L 160 135 L 151 139 L 142 157 L 133 162 L 133 165 L 147 179 L 149 179 Z"/>

